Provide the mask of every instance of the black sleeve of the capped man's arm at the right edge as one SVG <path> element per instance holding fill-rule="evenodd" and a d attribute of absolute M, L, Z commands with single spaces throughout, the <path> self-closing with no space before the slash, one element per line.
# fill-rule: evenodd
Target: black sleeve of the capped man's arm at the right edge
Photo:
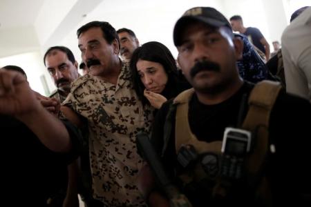
<path fill-rule="evenodd" d="M 310 117 L 308 100 L 285 92 L 276 99 L 270 119 L 270 140 L 275 145 L 270 176 L 281 200 L 288 196 L 298 201 L 303 194 L 311 195 Z"/>

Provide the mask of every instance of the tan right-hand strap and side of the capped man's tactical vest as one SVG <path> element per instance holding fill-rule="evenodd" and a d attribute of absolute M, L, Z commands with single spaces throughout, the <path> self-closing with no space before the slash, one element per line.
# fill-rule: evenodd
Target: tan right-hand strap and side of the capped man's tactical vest
<path fill-rule="evenodd" d="M 265 179 L 265 165 L 269 155 L 270 113 L 281 90 L 281 83 L 261 81 L 257 83 L 249 96 L 249 110 L 243 122 L 243 128 L 253 132 L 253 151 L 247 156 L 247 182 L 249 188 L 256 190 L 256 199 L 270 204 L 270 187 Z"/>

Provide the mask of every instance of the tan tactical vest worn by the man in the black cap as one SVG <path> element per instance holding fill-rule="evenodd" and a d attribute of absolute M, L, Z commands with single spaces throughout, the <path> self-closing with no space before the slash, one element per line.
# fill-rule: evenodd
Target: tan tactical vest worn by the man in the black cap
<path fill-rule="evenodd" d="M 245 156 L 243 165 L 247 186 L 249 188 L 254 188 L 254 196 L 256 198 L 268 202 L 271 201 L 271 194 L 267 180 L 263 175 L 263 169 L 271 147 L 268 140 L 270 112 L 280 89 L 281 85 L 278 82 L 261 81 L 260 83 L 257 83 L 249 95 L 249 110 L 242 126 L 244 130 L 248 130 L 255 135 L 252 152 Z M 178 154 L 182 146 L 189 145 L 194 146 L 199 155 L 211 153 L 211 155 L 221 157 L 222 141 L 199 141 L 191 132 L 188 121 L 188 111 L 189 101 L 193 94 L 193 89 L 186 90 L 178 95 L 173 101 L 173 106 L 176 106 L 176 154 Z M 164 127 L 165 125 L 166 124 L 164 124 Z M 225 197 L 232 185 L 231 181 L 221 177 L 219 173 L 217 173 L 217 170 L 214 169 L 213 172 L 213 169 L 211 168 L 211 173 L 207 173 L 206 170 L 202 168 L 202 165 L 198 163 L 195 166 L 192 166 L 191 169 L 182 172 L 182 175 L 180 175 L 179 178 L 182 180 L 184 186 L 187 186 L 192 182 L 202 183 L 205 179 L 209 180 L 207 183 L 213 183 L 214 185 L 211 186 L 211 194 L 213 196 L 220 195 Z M 210 180 L 214 182 L 210 182 Z M 269 204 L 267 206 L 269 206 Z"/>

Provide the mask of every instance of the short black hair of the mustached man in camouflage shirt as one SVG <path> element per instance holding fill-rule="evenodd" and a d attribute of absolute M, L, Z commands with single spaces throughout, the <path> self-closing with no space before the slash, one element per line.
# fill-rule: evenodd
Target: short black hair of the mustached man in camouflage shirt
<path fill-rule="evenodd" d="M 115 28 L 111 26 L 111 24 L 107 21 L 91 21 L 86 23 L 84 26 L 79 28 L 77 30 L 77 37 L 82 34 L 82 32 L 86 32 L 87 30 L 91 28 L 101 28 L 103 37 L 106 39 L 107 43 L 111 44 L 113 40 L 117 39 L 117 43 L 119 44 L 119 49 L 120 49 L 120 39 L 119 36 L 117 35 L 117 32 L 115 31 Z"/>

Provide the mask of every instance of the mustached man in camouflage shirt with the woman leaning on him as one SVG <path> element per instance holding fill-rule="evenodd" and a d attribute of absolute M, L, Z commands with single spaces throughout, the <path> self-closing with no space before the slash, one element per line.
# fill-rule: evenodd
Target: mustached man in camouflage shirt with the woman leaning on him
<path fill-rule="evenodd" d="M 135 94 L 129 65 L 118 57 L 117 32 L 108 22 L 87 23 L 77 37 L 90 72 L 73 82 L 62 112 L 79 127 L 88 123 L 93 197 L 105 206 L 146 206 L 136 186 L 143 163 L 135 139 L 138 132 L 149 132 L 152 109 Z"/>

